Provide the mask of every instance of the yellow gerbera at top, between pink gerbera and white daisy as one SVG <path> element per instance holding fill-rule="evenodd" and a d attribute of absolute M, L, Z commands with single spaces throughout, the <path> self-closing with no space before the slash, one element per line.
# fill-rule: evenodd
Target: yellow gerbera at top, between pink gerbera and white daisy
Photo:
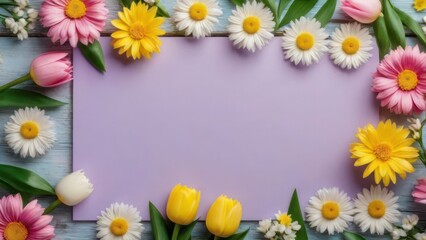
<path fill-rule="evenodd" d="M 141 56 L 151 58 L 151 53 L 160 52 L 161 40 L 158 38 L 166 32 L 159 27 L 164 23 L 164 18 L 155 17 L 157 7 L 149 8 L 148 5 L 139 2 L 132 3 L 130 9 L 124 7 L 123 12 L 119 12 L 119 19 L 112 20 L 117 31 L 111 34 L 114 49 L 119 49 L 121 55 L 133 59 L 140 59 Z"/>

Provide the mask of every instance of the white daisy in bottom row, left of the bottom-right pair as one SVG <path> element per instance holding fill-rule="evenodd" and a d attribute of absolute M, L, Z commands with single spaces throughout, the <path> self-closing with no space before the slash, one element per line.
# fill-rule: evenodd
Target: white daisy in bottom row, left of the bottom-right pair
<path fill-rule="evenodd" d="M 341 233 L 353 220 L 353 204 L 338 188 L 323 188 L 309 200 L 306 214 L 309 225 L 316 231 L 327 231 L 329 235 Z"/>

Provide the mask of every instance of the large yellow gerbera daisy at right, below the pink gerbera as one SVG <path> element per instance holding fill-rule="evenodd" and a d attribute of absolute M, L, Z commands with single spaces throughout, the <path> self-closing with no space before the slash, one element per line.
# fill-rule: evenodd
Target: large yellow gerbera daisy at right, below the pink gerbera
<path fill-rule="evenodd" d="M 374 172 L 376 184 L 383 181 L 385 186 L 396 183 L 396 174 L 401 178 L 414 172 L 411 163 L 419 156 L 417 148 L 412 147 L 414 139 L 409 138 L 410 131 L 397 127 L 390 120 L 380 122 L 377 129 L 371 124 L 359 129 L 356 137 L 360 142 L 351 145 L 351 158 L 357 159 L 355 167 L 368 165 L 363 178 Z"/>

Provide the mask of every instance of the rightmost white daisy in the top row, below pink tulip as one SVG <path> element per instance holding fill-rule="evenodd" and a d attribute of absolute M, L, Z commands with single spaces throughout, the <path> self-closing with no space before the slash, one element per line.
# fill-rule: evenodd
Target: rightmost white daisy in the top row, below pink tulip
<path fill-rule="evenodd" d="M 330 56 L 343 69 L 357 69 L 371 58 L 373 43 L 368 28 L 359 23 L 340 25 L 332 34 Z"/>

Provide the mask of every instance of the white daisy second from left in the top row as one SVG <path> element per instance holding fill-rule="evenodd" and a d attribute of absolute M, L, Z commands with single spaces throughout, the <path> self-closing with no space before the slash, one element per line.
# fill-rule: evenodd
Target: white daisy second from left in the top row
<path fill-rule="evenodd" d="M 274 37 L 274 16 L 261 2 L 248 1 L 232 10 L 228 19 L 229 39 L 237 48 L 262 49 Z"/>

